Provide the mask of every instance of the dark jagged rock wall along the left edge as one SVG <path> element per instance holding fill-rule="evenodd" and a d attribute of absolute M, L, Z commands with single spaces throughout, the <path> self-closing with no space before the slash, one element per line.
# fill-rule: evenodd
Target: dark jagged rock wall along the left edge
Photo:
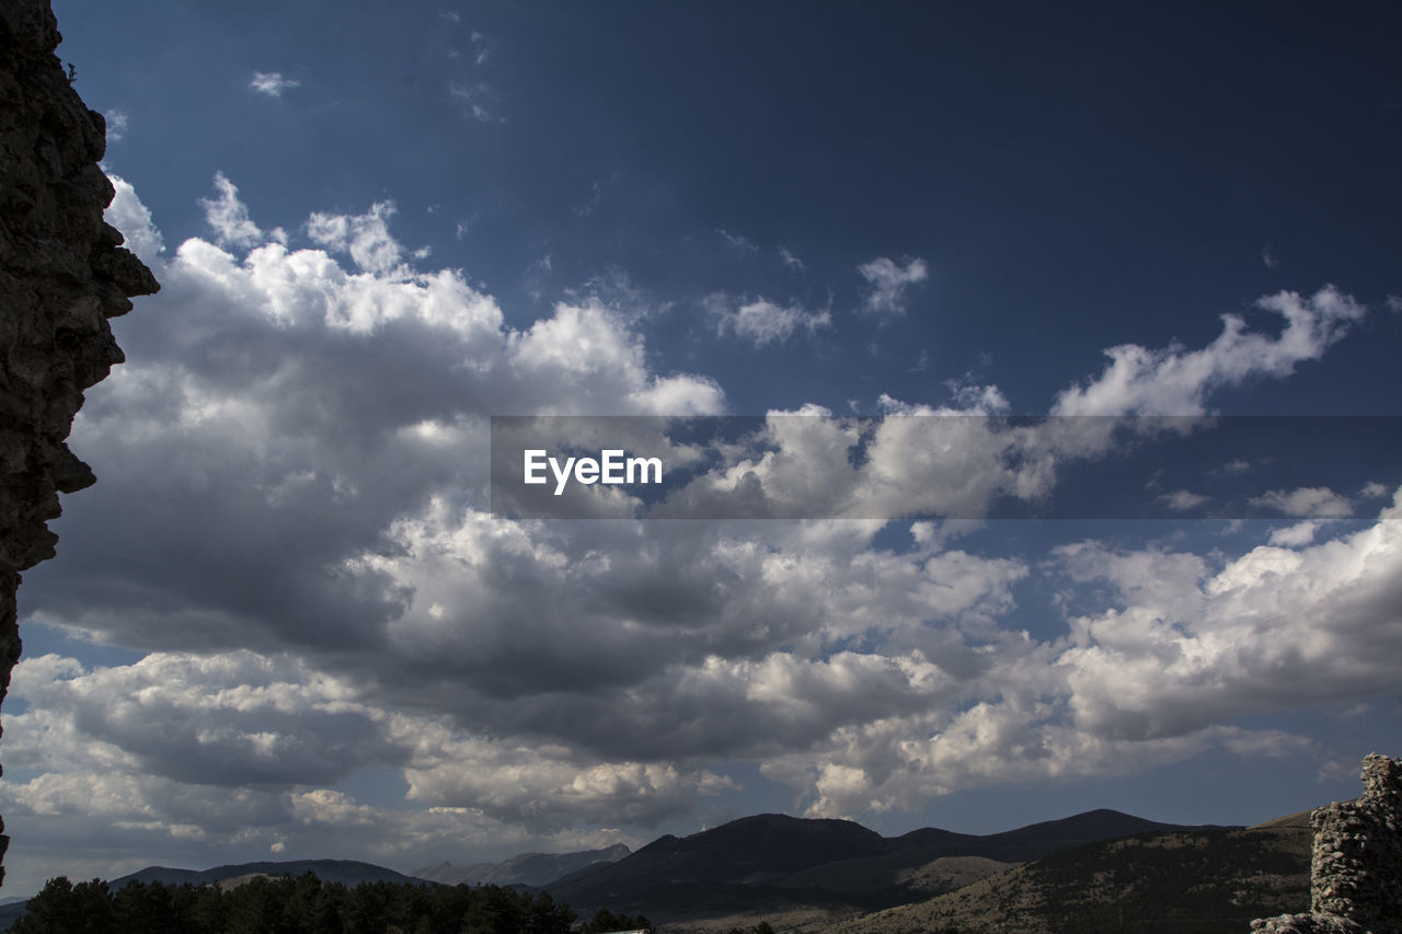
<path fill-rule="evenodd" d="M 0 700 L 20 658 L 20 572 L 53 557 L 59 492 L 95 480 L 64 439 L 83 390 L 123 360 L 107 320 L 160 287 L 102 222 L 107 128 L 59 42 L 49 0 L 0 0 Z"/>

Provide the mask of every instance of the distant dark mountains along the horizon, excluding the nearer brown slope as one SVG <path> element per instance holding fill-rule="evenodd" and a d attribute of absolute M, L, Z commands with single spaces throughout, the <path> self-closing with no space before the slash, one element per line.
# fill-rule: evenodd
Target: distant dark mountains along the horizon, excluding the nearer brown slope
<path fill-rule="evenodd" d="M 443 864 L 419 869 L 414 877 L 350 860 L 240 862 L 199 871 L 153 865 L 112 879 L 109 886 L 116 891 L 128 882 L 209 885 L 238 877 L 314 872 L 324 882 L 346 886 L 467 881 L 543 888 L 580 914 L 607 906 L 641 912 L 655 921 L 784 912 L 799 912 L 809 919 L 850 917 L 857 912 L 921 903 L 1015 864 L 1084 844 L 1133 834 L 1206 830 L 1216 829 L 1158 823 L 1102 809 L 986 836 L 924 827 L 883 837 L 851 820 L 763 813 L 687 837 L 667 834 L 632 854 L 621 844 L 569 854 L 526 853 L 505 862 L 461 868 Z M 580 861 L 587 864 L 568 871 Z M 541 882 L 559 868 L 566 872 Z M 20 903 L 0 906 L 0 930 L 24 910 Z"/>

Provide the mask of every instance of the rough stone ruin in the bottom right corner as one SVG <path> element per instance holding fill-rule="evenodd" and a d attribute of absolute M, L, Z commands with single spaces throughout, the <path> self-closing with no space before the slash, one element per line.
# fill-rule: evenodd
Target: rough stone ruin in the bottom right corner
<path fill-rule="evenodd" d="M 1363 760 L 1363 797 L 1316 808 L 1309 913 L 1251 923 L 1262 934 L 1402 934 L 1402 759 Z"/>

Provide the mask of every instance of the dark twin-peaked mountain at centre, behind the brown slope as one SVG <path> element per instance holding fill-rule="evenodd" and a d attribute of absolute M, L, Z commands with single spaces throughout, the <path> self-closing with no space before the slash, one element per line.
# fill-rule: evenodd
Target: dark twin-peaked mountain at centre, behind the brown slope
<path fill-rule="evenodd" d="M 987 875 L 1085 843 L 1187 829 L 1101 809 L 987 836 L 925 827 L 882 837 L 851 820 L 765 813 L 688 837 L 660 837 L 627 858 L 544 888 L 579 909 L 610 905 L 649 917 L 666 916 L 669 906 L 709 913 L 758 900 L 771 906 L 899 905 L 930 896 L 931 879 L 939 874 L 916 877 L 935 860 L 994 861 L 960 869 Z"/>

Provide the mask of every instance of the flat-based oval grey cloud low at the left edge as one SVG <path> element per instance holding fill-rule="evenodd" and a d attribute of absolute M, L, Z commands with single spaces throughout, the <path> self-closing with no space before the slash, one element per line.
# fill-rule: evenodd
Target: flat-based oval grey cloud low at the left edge
<path fill-rule="evenodd" d="M 182 784 L 290 788 L 408 759 L 383 711 L 290 659 L 157 652 L 88 672 L 43 655 L 15 673 L 31 705 L 10 746 L 18 767 L 125 764 Z"/>

